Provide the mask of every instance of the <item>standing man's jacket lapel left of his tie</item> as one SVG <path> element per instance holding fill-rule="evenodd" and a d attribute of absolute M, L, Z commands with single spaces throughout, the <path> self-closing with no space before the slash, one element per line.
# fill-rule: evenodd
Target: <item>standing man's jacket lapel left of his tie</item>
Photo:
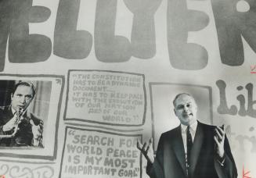
<path fill-rule="evenodd" d="M 171 145 L 173 145 L 172 147 L 175 152 L 176 158 L 178 159 L 179 164 L 182 166 L 184 175 L 186 175 L 186 156 L 182 141 L 182 130 L 180 125 L 175 129 L 175 137 L 173 137 L 171 141 Z"/>

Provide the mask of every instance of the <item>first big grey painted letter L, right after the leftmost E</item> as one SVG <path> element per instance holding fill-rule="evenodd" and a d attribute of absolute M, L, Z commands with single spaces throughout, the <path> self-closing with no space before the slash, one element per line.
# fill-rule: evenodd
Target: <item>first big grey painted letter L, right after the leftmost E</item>
<path fill-rule="evenodd" d="M 85 59 L 92 49 L 92 34 L 77 30 L 80 0 L 60 0 L 54 31 L 55 55 L 65 59 Z"/>

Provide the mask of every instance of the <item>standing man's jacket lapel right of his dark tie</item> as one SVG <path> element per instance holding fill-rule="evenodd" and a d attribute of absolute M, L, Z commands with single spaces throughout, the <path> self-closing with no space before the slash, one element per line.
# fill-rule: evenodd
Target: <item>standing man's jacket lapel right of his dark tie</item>
<path fill-rule="evenodd" d="M 190 173 L 194 173 L 194 170 L 197 166 L 197 160 L 200 156 L 200 150 L 203 144 L 203 139 L 204 139 L 204 131 L 203 128 L 201 126 L 201 124 L 198 122 L 197 125 L 197 131 L 196 131 L 196 135 L 193 141 L 193 147 L 191 150 L 191 166 L 190 166 Z"/>

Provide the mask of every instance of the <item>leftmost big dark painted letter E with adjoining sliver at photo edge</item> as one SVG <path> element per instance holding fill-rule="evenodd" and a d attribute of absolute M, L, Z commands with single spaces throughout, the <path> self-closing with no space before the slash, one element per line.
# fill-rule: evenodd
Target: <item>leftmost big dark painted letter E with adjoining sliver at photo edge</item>
<path fill-rule="evenodd" d="M 40 16 L 35 16 L 36 12 Z M 32 6 L 32 0 L 0 2 L 0 71 L 5 67 L 5 50 L 9 35 L 9 62 L 32 63 L 49 59 L 52 42 L 41 34 L 29 34 L 29 23 L 44 22 L 51 11 Z"/>

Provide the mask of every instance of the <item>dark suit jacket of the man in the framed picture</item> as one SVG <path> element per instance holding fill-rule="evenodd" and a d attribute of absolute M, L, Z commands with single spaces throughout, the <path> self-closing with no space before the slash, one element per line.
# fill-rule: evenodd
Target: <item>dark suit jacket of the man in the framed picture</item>
<path fill-rule="evenodd" d="M 2 130 L 2 126 L 5 123 L 8 123 L 10 119 L 13 118 L 13 112 L 11 106 L 0 107 L 0 135 L 12 134 L 13 130 L 4 132 Z M 35 125 L 41 123 L 41 119 L 34 116 L 32 113 L 26 112 L 23 115 L 23 119 L 18 125 L 19 130 L 17 130 L 15 137 L 12 138 L 0 138 L 0 146 L 7 147 L 19 147 L 19 146 L 33 146 L 33 133 L 32 133 L 32 125 L 30 123 L 30 119 L 34 121 Z M 42 147 L 41 144 L 39 144 Z"/>

